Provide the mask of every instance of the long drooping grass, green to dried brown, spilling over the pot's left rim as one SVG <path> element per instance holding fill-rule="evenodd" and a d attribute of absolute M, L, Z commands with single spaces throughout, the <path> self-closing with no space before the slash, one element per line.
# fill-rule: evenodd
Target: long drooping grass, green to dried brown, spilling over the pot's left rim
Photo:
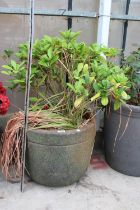
<path fill-rule="evenodd" d="M 2 136 L 2 172 L 7 180 L 16 181 L 21 177 L 22 128 L 24 113 L 16 113 L 7 123 Z M 72 129 L 68 118 L 49 111 L 29 112 L 29 129 Z"/>

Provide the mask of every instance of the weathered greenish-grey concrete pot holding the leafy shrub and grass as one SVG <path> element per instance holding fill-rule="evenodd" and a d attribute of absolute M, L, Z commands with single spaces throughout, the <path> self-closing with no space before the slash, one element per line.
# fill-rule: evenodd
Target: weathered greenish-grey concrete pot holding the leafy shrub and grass
<path fill-rule="evenodd" d="M 27 132 L 27 169 L 33 181 L 65 186 L 86 172 L 93 149 L 95 123 L 80 130 L 30 130 Z"/>

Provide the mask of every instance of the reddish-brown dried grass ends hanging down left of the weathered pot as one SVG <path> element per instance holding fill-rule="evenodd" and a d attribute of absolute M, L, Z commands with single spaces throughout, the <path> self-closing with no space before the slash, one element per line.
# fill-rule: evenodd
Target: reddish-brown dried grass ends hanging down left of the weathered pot
<path fill-rule="evenodd" d="M 24 115 L 18 112 L 6 126 L 2 136 L 2 172 L 6 179 L 18 179 L 21 176 L 21 139 Z M 29 114 L 29 123 L 35 123 L 35 115 Z"/>

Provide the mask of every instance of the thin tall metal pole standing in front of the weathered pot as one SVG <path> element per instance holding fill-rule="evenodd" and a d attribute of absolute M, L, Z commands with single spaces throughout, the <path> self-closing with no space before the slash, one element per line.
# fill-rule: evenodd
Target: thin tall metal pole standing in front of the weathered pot
<path fill-rule="evenodd" d="M 22 138 L 22 174 L 20 189 L 23 192 L 24 187 L 24 173 L 25 173 L 25 153 L 26 153 L 26 133 L 28 128 L 28 108 L 29 108 L 29 93 L 30 93 L 30 75 L 32 66 L 32 46 L 34 36 L 34 0 L 30 0 L 30 32 L 29 32 L 29 49 L 28 49 L 28 63 L 26 72 L 26 90 L 25 90 L 25 102 L 24 102 L 24 126 L 23 126 L 23 138 Z"/>

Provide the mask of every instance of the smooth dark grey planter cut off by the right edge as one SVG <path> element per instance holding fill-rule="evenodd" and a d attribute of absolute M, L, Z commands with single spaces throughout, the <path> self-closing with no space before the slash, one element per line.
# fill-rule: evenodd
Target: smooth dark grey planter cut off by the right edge
<path fill-rule="evenodd" d="M 105 158 L 113 169 L 126 175 L 140 176 L 140 107 L 131 105 L 130 109 L 122 105 L 120 116 L 120 110 L 111 108 L 110 114 L 105 116 Z"/>

